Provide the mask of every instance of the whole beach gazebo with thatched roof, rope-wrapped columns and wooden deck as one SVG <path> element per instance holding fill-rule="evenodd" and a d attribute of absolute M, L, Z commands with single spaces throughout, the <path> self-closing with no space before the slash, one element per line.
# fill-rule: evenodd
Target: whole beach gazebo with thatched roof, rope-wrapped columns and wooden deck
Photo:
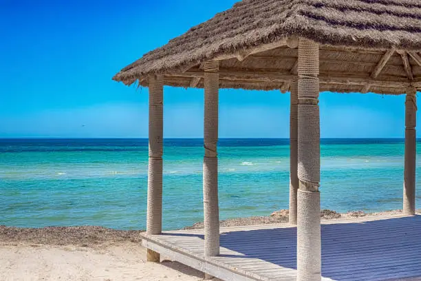
<path fill-rule="evenodd" d="M 149 87 L 147 233 L 143 240 L 148 260 L 159 262 L 162 254 L 204 271 L 208 278 L 223 280 L 421 276 L 417 234 L 421 221 L 413 216 L 420 52 L 419 0 L 244 0 L 123 68 L 114 80 Z M 164 85 L 204 88 L 204 231 L 162 233 Z M 219 88 L 290 92 L 290 226 L 220 231 Z M 407 95 L 406 216 L 321 227 L 318 103 L 319 92 L 324 91 Z M 389 231 L 393 233 L 388 235 Z M 353 240 L 357 233 L 364 235 Z M 393 248 L 402 241 L 408 242 L 407 248 Z M 392 249 L 396 252 L 385 253 Z M 353 258 L 360 260 L 347 267 Z"/>

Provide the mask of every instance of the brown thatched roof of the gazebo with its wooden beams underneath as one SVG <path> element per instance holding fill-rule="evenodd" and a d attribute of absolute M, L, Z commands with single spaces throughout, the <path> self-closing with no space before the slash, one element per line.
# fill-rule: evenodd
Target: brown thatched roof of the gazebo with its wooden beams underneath
<path fill-rule="evenodd" d="M 145 54 L 123 68 L 114 76 L 114 80 L 127 85 L 138 80 L 140 85 L 147 85 L 145 79 L 148 74 L 162 73 L 168 74 L 166 85 L 202 87 L 199 81 L 201 76 L 197 72 L 200 71 L 201 63 L 213 59 L 222 61 L 222 68 L 226 67 L 226 72 L 230 67 L 229 72 L 262 68 L 284 71 L 290 67 L 289 71 L 282 73 L 294 74 L 292 68 L 296 50 L 285 48 L 285 39 L 298 37 L 321 44 L 322 76 L 323 71 L 327 70 L 343 74 L 348 71 L 354 75 L 365 74 L 369 79 L 385 52 L 396 48 L 413 53 L 409 53 L 409 56 L 406 52 L 402 55 L 392 53 L 389 56 L 382 66 L 382 71 L 387 71 L 389 67 L 391 73 L 388 75 L 393 76 L 388 81 L 413 81 L 417 76 L 421 79 L 420 62 L 417 61 L 417 52 L 421 50 L 420 0 L 244 0 L 213 19 L 191 28 L 162 48 Z M 259 52 L 252 51 L 259 46 L 266 48 Z M 323 52 L 326 53 L 325 62 L 332 63 L 325 70 Z M 241 58 L 242 53 L 246 56 Z M 252 59 L 256 54 L 266 58 L 266 61 Z M 403 56 L 409 58 L 407 63 L 413 72 L 412 77 L 408 74 Z M 274 60 L 269 62 L 270 57 Z M 358 62 L 360 65 L 355 64 Z M 191 70 L 197 72 L 191 73 Z M 377 76 L 380 79 L 381 75 L 377 74 L 375 78 Z M 290 80 L 280 77 L 262 83 L 256 80 L 259 77 L 253 77 L 255 81 L 248 76 L 229 78 L 225 82 L 222 78 L 222 87 L 262 90 L 283 87 L 285 90 L 285 81 Z M 342 83 L 333 83 L 336 86 L 325 88 L 322 85 L 322 88 L 344 92 L 359 92 L 360 89 L 360 85 L 348 89 L 337 87 L 339 84 Z M 376 86 L 369 90 L 373 89 L 386 94 L 402 92 L 401 89 L 383 90 Z"/>

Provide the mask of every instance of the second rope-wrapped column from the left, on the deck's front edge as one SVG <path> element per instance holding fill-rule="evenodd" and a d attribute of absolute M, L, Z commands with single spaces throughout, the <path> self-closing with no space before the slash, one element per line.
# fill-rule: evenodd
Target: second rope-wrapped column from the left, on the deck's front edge
<path fill-rule="evenodd" d="M 204 253 L 205 257 L 219 255 L 219 205 L 218 205 L 218 104 L 219 63 L 204 64 Z"/>

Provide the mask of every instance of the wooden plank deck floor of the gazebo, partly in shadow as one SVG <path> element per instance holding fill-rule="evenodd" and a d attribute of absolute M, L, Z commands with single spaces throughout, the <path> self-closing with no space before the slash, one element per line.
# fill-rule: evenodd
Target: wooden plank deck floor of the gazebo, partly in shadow
<path fill-rule="evenodd" d="M 215 258 L 204 258 L 202 230 L 144 235 L 142 244 L 226 281 L 295 281 L 296 228 L 221 230 L 221 255 Z M 324 222 L 322 275 L 338 281 L 421 280 L 421 216 Z"/>

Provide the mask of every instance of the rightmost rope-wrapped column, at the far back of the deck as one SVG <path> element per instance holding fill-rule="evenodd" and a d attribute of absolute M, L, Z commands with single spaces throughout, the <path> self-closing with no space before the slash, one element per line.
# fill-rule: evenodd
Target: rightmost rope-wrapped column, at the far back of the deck
<path fill-rule="evenodd" d="M 403 209 L 407 216 L 415 215 L 415 166 L 417 157 L 417 98 L 415 87 L 408 87 L 405 102 L 405 164 Z"/>

